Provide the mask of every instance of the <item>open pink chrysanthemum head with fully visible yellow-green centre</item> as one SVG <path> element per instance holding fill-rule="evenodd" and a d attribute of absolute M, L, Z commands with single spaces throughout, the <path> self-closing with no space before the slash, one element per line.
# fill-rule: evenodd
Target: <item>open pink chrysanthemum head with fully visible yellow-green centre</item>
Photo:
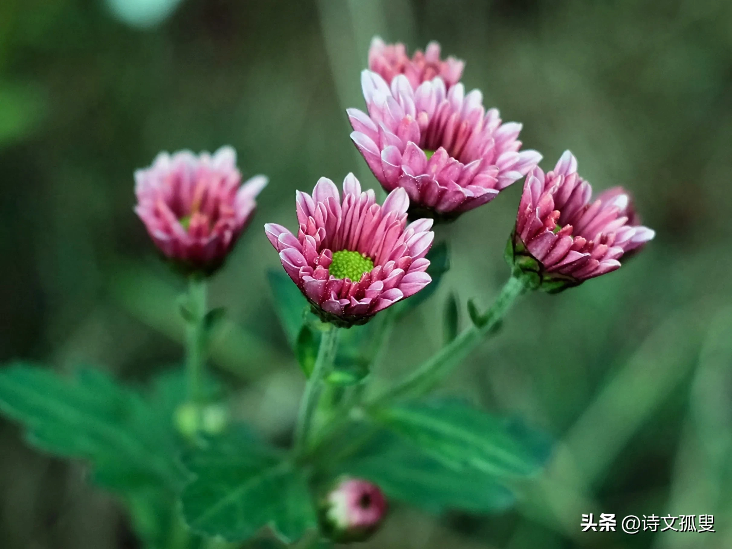
<path fill-rule="evenodd" d="M 297 238 L 282 225 L 264 225 L 285 271 L 321 320 L 338 326 L 365 324 L 424 288 L 432 280 L 425 258 L 432 246 L 432 220 L 406 225 L 409 198 L 403 189 L 376 203 L 361 192 L 353 173 L 335 184 L 321 177 L 313 195 L 297 191 Z"/>

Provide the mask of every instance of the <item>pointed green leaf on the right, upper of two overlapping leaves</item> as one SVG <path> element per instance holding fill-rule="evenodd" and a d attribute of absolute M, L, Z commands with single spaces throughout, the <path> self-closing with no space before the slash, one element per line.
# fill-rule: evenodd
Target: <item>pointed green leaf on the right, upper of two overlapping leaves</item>
<path fill-rule="evenodd" d="M 458 400 L 405 403 L 373 417 L 455 471 L 526 477 L 549 455 L 547 437 Z"/>

